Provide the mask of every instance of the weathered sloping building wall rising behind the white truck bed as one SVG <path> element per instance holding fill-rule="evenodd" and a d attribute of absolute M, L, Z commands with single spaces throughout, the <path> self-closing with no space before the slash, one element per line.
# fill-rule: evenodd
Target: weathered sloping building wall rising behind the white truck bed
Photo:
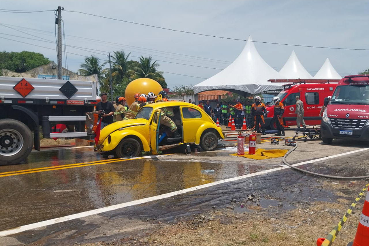
<path fill-rule="evenodd" d="M 42 75 L 46 75 L 47 79 L 56 79 L 58 76 L 58 68 L 52 69 L 52 66 L 55 65 L 55 62 L 50 62 L 49 64 L 39 66 L 37 68 L 31 69 L 30 71 L 17 73 L 10 71 L 8 69 L 2 69 L 3 76 L 8 77 L 22 77 L 22 78 L 42 78 Z M 63 79 L 67 80 L 79 80 L 79 81 L 96 81 L 97 75 L 93 74 L 90 76 L 80 76 L 76 73 L 73 73 L 65 68 L 62 68 Z M 69 76 L 69 77 L 68 77 Z"/>

